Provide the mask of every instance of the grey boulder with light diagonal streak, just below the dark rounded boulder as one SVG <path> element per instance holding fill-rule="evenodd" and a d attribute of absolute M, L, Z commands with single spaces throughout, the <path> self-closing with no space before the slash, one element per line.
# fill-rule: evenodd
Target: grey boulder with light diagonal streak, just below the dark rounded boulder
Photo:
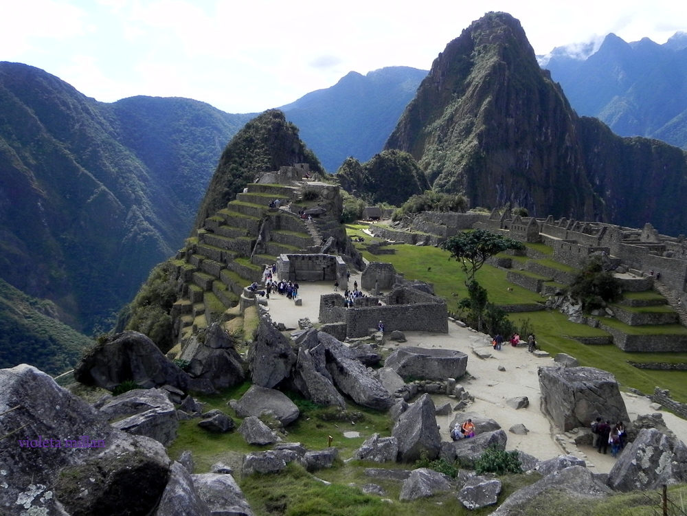
<path fill-rule="evenodd" d="M 148 436 L 165 446 L 177 438 L 179 418 L 166 391 L 161 389 L 134 389 L 113 396 L 100 412 L 113 422 L 115 428 L 128 434 Z"/>

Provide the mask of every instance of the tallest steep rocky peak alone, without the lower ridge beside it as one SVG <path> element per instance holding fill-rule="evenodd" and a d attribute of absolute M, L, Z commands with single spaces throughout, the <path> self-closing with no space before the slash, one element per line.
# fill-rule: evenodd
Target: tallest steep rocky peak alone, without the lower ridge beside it
<path fill-rule="evenodd" d="M 386 148 L 411 153 L 433 188 L 464 192 L 473 206 L 593 220 L 605 210 L 576 139 L 570 106 L 520 23 L 492 12 L 436 58 Z"/>

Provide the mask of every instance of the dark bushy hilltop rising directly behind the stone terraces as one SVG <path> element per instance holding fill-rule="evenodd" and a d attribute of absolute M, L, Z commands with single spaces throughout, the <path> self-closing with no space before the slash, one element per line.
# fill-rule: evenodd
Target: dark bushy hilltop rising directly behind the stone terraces
<path fill-rule="evenodd" d="M 296 163 L 309 164 L 312 172 L 324 172 L 315 154 L 300 139 L 298 128 L 286 122 L 282 111 L 269 109 L 258 115 L 225 147 L 196 215 L 196 229 L 243 192 L 247 183 L 256 179 L 256 172 Z"/>

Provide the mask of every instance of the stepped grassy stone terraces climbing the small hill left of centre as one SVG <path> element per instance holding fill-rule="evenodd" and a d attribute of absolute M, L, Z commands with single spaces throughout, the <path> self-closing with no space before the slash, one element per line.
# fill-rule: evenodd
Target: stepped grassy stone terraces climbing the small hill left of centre
<path fill-rule="evenodd" d="M 243 289 L 262 280 L 265 266 L 279 254 L 308 252 L 322 245 L 322 234 L 313 221 L 304 221 L 286 206 L 297 199 L 300 188 L 249 184 L 245 193 L 205 220 L 203 229 L 177 254 L 177 272 L 183 281 L 181 298 L 172 317 L 179 321 L 179 337 L 221 320 L 224 312 L 240 302 Z M 280 209 L 269 203 L 280 199 Z M 264 242 L 258 244 L 263 231 Z M 257 251 L 260 247 L 260 252 Z"/>

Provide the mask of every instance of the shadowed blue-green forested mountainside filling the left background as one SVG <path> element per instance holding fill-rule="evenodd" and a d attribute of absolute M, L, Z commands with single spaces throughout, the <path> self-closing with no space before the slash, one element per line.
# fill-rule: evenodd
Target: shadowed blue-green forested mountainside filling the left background
<path fill-rule="evenodd" d="M 104 104 L 0 63 L 0 278 L 91 333 L 183 244 L 249 115 L 181 98 Z"/>

